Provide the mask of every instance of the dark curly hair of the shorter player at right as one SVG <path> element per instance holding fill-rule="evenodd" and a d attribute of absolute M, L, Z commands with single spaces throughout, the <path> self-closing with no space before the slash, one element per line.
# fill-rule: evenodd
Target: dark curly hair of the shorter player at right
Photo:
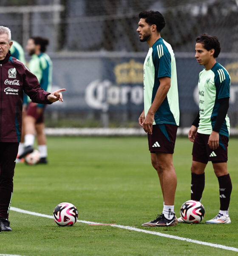
<path fill-rule="evenodd" d="M 217 58 L 219 53 L 221 52 L 221 45 L 215 35 L 207 35 L 206 33 L 204 33 L 196 38 L 196 42 L 201 43 L 207 51 L 214 49 L 214 58 Z"/>

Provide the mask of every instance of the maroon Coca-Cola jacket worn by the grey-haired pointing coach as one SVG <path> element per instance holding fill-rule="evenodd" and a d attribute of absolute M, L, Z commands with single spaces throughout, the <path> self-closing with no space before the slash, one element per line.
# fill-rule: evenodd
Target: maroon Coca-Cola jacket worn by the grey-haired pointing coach
<path fill-rule="evenodd" d="M 20 142 L 23 90 L 33 102 L 51 104 L 37 77 L 8 53 L 0 64 L 0 142 Z"/>

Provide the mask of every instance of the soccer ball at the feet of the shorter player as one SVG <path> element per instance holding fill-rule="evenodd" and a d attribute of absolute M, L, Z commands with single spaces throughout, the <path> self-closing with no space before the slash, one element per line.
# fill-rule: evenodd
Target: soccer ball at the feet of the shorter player
<path fill-rule="evenodd" d="M 189 200 L 181 206 L 180 214 L 187 223 L 199 223 L 205 215 L 205 209 L 200 202 Z"/>

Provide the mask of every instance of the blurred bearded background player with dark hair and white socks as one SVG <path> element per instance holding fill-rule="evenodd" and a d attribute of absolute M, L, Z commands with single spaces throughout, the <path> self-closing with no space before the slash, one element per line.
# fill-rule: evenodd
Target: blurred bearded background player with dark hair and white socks
<path fill-rule="evenodd" d="M 44 90 L 51 89 L 52 81 L 52 62 L 50 57 L 45 53 L 48 45 L 48 39 L 41 37 L 31 37 L 28 39 L 26 49 L 31 55 L 31 60 L 28 64 L 32 73 L 37 76 L 40 82 L 40 87 Z M 28 105 L 26 118 L 23 126 L 25 128 L 25 148 L 19 158 L 25 157 L 31 153 L 34 148 L 35 133 L 37 133 L 38 149 L 40 151 L 39 163 L 47 163 L 47 145 L 44 125 L 44 104 L 30 102 Z"/>

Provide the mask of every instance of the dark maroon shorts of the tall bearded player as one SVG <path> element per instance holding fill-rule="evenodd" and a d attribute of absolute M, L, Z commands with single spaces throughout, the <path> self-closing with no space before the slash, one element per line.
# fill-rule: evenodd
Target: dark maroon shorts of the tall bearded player
<path fill-rule="evenodd" d="M 153 125 L 152 134 L 148 134 L 150 153 L 164 152 L 173 154 L 177 129 L 177 125 Z"/>

